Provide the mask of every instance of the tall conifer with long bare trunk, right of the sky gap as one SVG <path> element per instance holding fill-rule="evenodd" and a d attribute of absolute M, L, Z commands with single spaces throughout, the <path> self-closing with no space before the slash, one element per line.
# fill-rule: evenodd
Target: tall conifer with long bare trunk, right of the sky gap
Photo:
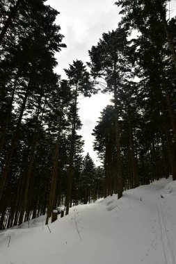
<path fill-rule="evenodd" d="M 104 33 L 102 40 L 96 47 L 89 51 L 90 68 L 92 74 L 105 76 L 107 83 L 106 91 L 113 92 L 113 102 L 115 110 L 115 145 L 116 145 L 116 163 L 117 163 L 117 192 L 118 198 L 122 197 L 122 160 L 120 150 L 120 109 L 118 100 L 118 89 L 122 85 L 123 79 L 129 72 L 125 53 L 127 45 L 127 34 L 122 28 L 115 31 Z"/>

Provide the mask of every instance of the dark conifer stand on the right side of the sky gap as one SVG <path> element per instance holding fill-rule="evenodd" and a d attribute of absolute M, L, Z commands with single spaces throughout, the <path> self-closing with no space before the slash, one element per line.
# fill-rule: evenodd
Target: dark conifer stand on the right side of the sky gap
<path fill-rule="evenodd" d="M 169 19 L 168 2 L 117 1 L 118 28 L 89 51 L 93 76 L 113 94 L 93 131 L 104 197 L 170 174 L 176 179 L 176 18 Z"/>

